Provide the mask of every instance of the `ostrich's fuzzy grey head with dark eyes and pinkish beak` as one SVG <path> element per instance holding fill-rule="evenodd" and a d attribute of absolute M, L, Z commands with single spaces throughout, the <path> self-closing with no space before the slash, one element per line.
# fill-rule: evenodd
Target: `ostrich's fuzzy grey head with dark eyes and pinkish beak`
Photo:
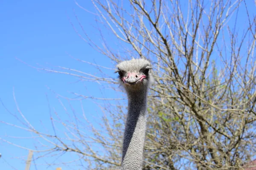
<path fill-rule="evenodd" d="M 151 64 L 147 59 L 131 59 L 116 65 L 119 82 L 127 92 L 145 92 L 152 82 Z"/>

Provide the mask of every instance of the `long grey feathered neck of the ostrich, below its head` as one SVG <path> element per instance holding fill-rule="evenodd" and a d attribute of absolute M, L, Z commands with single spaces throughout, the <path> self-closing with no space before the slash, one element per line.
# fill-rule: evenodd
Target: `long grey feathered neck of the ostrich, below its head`
<path fill-rule="evenodd" d="M 147 92 L 128 94 L 128 115 L 122 150 L 122 170 L 141 170 L 146 130 Z"/>

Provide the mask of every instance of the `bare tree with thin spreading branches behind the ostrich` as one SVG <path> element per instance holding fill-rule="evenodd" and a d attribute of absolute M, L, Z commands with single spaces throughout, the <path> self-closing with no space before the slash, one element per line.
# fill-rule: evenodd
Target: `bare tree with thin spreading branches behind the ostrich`
<path fill-rule="evenodd" d="M 148 96 L 143 170 L 243 169 L 256 156 L 256 20 L 247 10 L 249 2 L 91 2 L 97 21 L 106 28 L 99 29 L 103 45 L 95 44 L 86 32 L 77 31 L 78 35 L 115 63 L 146 57 L 154 67 L 155 81 Z M 254 5 L 253 1 L 250 5 Z M 238 23 L 241 10 L 247 13 L 244 23 Z M 118 48 L 113 48 L 104 37 L 105 31 L 116 37 Z M 105 86 L 119 93 L 116 75 L 105 75 L 105 70 L 111 68 L 79 61 L 96 66 L 104 76 L 64 67 L 60 67 L 62 71 L 37 69 L 84 81 L 105 82 Z M 59 135 L 55 130 L 54 133 L 38 131 L 25 117 L 23 126 L 12 126 L 32 132 L 40 138 L 37 140 L 47 143 L 35 150 L 38 157 L 71 152 L 78 156 L 74 160 L 76 164 L 87 169 L 119 169 L 126 113 L 122 102 L 125 101 L 74 95 L 105 101 L 102 127 L 96 128 L 87 120 L 82 105 L 82 113 L 71 116 L 72 124 L 60 118 L 59 114 L 63 113 L 52 115 L 53 129 L 60 123 L 66 135 Z"/>

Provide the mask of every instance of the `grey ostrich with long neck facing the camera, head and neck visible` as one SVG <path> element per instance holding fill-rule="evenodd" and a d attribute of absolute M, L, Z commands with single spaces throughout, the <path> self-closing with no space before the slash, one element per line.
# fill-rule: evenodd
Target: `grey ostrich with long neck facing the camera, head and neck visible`
<path fill-rule="evenodd" d="M 152 82 L 147 59 L 131 59 L 117 66 L 120 86 L 128 96 L 128 115 L 122 148 L 122 170 L 141 170 L 146 130 L 146 98 Z"/>

